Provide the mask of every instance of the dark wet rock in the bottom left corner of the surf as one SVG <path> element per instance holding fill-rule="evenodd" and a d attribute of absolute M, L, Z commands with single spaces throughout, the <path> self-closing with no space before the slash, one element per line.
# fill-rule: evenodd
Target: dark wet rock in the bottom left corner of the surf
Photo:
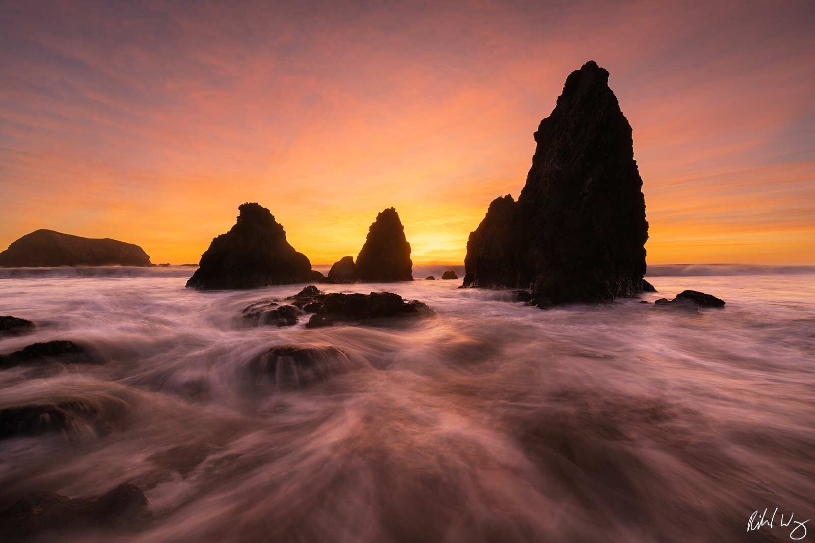
<path fill-rule="evenodd" d="M 133 484 L 120 484 L 96 499 L 41 492 L 21 498 L 0 512 L 0 539 L 27 541 L 49 532 L 63 536 L 88 529 L 135 530 L 150 519 L 148 499 Z"/>

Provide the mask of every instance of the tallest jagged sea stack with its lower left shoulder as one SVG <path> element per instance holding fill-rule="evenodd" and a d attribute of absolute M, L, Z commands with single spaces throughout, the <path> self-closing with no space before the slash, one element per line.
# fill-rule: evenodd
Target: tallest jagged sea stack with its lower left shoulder
<path fill-rule="evenodd" d="M 541 305 L 643 290 L 642 179 L 608 77 L 590 61 L 566 79 L 518 202 L 494 200 L 470 234 L 464 287 L 530 288 Z"/>

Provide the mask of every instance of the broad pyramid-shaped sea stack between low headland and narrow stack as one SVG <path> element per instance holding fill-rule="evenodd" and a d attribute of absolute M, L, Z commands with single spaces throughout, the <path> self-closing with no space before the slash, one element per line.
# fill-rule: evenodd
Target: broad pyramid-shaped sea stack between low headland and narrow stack
<path fill-rule="evenodd" d="M 308 282 L 311 262 L 286 241 L 267 208 L 242 204 L 235 226 L 212 240 L 187 281 L 197 289 L 253 288 Z"/>

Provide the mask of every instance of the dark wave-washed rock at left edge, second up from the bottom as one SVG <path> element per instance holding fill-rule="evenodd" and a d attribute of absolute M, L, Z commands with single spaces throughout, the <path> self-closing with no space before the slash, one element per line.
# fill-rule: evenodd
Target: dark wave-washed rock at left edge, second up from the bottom
<path fill-rule="evenodd" d="M 105 435 L 120 427 L 126 410 L 126 403 L 116 398 L 15 405 L 0 409 L 0 439 L 53 431 L 90 430 Z"/>

